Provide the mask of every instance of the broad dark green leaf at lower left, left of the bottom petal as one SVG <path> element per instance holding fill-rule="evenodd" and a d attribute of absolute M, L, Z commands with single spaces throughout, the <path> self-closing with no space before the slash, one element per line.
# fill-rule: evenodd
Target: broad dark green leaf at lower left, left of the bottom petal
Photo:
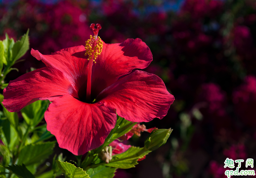
<path fill-rule="evenodd" d="M 18 164 L 31 165 L 47 159 L 53 153 L 55 142 L 26 145 L 19 154 Z"/>

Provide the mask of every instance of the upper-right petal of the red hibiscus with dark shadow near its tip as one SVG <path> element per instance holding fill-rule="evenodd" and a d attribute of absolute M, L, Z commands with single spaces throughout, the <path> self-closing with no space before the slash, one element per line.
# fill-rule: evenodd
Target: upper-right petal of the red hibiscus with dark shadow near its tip
<path fill-rule="evenodd" d="M 92 98 L 122 75 L 133 69 L 144 69 L 153 60 L 152 53 L 141 39 L 126 39 L 122 43 L 103 43 L 92 71 Z"/>

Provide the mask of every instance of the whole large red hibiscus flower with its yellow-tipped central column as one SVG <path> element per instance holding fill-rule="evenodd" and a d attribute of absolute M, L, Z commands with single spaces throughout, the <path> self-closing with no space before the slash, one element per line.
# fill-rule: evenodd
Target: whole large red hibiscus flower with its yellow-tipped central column
<path fill-rule="evenodd" d="M 106 44 L 97 38 L 100 25 L 91 28 L 95 37 L 87 41 L 87 50 L 77 46 L 42 55 L 32 49 L 31 55 L 47 67 L 10 81 L 4 90 L 3 104 L 10 112 L 50 100 L 47 129 L 61 148 L 75 155 L 102 145 L 115 126 L 116 114 L 132 122 L 162 119 L 174 101 L 158 76 L 132 72 L 152 61 L 141 39 Z"/>

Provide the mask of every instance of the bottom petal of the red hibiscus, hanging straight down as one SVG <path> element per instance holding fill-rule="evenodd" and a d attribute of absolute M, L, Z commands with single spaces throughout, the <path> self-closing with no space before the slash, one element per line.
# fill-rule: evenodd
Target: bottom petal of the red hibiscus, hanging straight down
<path fill-rule="evenodd" d="M 45 119 L 59 147 L 82 155 L 104 143 L 115 126 L 116 112 L 102 104 L 83 103 L 64 95 L 50 104 Z"/>

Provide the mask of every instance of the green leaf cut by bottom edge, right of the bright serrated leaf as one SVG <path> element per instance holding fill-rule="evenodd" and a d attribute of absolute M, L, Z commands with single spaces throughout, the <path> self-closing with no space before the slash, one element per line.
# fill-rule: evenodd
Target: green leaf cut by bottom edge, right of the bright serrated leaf
<path fill-rule="evenodd" d="M 96 168 L 88 169 L 87 173 L 91 178 L 112 178 L 115 175 L 116 168 L 98 166 Z"/>

